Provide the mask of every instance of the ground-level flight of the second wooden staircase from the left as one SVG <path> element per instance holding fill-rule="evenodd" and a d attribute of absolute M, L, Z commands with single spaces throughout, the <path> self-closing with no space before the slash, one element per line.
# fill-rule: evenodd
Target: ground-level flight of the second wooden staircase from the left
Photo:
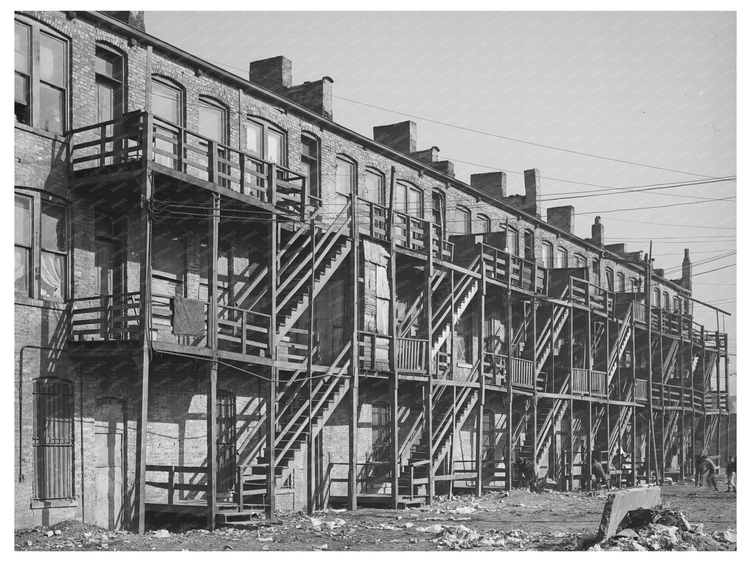
<path fill-rule="evenodd" d="M 467 382 L 477 382 L 481 362 L 472 365 Z M 450 393 L 457 390 L 456 399 Z M 412 447 L 409 464 L 424 467 L 415 476 L 427 477 L 428 465 L 432 464 L 437 470 L 454 442 L 455 431 L 459 431 L 472 413 L 479 398 L 478 389 L 471 386 L 448 386 L 436 384 L 433 386 L 433 434 L 428 437 L 427 427 L 422 432 L 421 439 Z M 430 461 L 430 463 L 425 462 Z M 409 486 L 408 486 L 409 487 Z M 412 494 L 410 494 L 412 495 Z"/>

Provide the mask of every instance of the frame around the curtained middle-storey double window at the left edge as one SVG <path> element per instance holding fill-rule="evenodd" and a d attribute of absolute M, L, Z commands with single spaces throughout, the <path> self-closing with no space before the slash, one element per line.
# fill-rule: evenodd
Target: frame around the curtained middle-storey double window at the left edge
<path fill-rule="evenodd" d="M 48 302 L 65 302 L 71 295 L 71 206 L 66 200 L 60 197 L 54 197 L 50 194 L 32 191 L 24 188 L 15 188 L 15 197 L 26 197 L 32 200 L 31 205 L 31 264 L 29 267 L 29 283 L 31 291 L 24 295 L 16 293 L 14 289 L 14 299 L 35 299 Z M 14 198 L 15 201 L 15 198 Z M 65 209 L 65 251 L 42 248 L 42 208 L 44 204 L 61 206 Z M 15 242 L 15 240 L 14 240 Z M 14 244 L 15 247 L 15 244 Z M 65 264 L 62 268 L 63 290 L 61 296 L 43 296 L 41 291 L 41 255 L 50 253 L 62 256 Z"/>

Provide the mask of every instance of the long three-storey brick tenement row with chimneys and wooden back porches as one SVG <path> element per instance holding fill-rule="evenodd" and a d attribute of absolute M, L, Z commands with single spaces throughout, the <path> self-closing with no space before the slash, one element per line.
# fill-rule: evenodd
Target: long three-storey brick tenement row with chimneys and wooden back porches
<path fill-rule="evenodd" d="M 249 80 L 137 12 L 16 14 L 17 527 L 633 484 L 719 455 L 727 335 L 574 235 L 538 170 L 454 177 L 333 80 Z M 715 450 L 716 449 L 716 450 Z M 723 449 L 724 450 L 724 449 Z M 622 460 L 621 453 L 627 460 Z"/>

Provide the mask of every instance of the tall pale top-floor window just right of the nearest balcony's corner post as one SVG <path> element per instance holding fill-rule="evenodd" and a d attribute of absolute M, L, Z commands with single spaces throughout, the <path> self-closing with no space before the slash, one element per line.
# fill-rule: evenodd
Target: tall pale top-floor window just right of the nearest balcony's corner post
<path fill-rule="evenodd" d="M 151 108 L 158 118 L 154 123 L 155 132 L 168 139 L 154 139 L 154 148 L 162 152 L 154 154 L 154 161 L 176 170 L 179 134 L 176 128 L 182 127 L 182 90 L 167 79 L 152 77 Z"/>

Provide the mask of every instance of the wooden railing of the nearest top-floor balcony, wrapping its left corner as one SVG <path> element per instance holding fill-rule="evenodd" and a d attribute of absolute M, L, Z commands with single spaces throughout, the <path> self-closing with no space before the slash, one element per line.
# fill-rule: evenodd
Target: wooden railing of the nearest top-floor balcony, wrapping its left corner
<path fill-rule="evenodd" d="M 146 146 L 149 128 L 152 144 Z M 72 129 L 66 136 L 70 174 L 97 173 L 110 164 L 140 161 L 147 154 L 155 164 L 273 203 L 291 214 L 304 216 L 321 203 L 309 197 L 306 177 L 300 173 L 146 112 Z"/>

